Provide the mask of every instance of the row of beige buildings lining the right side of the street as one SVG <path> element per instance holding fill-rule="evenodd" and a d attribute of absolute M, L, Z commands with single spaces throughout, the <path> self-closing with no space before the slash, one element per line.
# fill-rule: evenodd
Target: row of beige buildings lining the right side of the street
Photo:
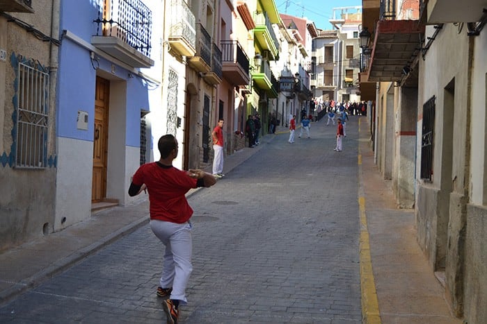
<path fill-rule="evenodd" d="M 417 240 L 452 312 L 485 323 L 485 3 L 393 4 L 362 1 L 372 37 L 360 87 L 374 108 L 376 164 L 397 204 L 414 208 Z"/>

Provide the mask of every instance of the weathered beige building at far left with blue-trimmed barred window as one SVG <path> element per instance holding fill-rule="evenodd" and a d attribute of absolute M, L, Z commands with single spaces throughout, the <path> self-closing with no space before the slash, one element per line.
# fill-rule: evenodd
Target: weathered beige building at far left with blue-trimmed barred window
<path fill-rule="evenodd" d="M 0 2 L 0 250 L 54 230 L 58 15 Z"/>

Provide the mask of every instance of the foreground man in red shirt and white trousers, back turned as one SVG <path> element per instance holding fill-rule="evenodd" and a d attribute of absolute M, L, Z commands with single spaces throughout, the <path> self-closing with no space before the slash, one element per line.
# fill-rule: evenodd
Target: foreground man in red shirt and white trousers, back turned
<path fill-rule="evenodd" d="M 193 210 L 186 192 L 196 187 L 211 187 L 216 178 L 200 169 L 182 171 L 173 167 L 177 157 L 177 139 L 163 135 L 157 144 L 161 158 L 138 168 L 132 177 L 129 196 L 149 192 L 150 228 L 166 246 L 157 296 L 162 302 L 168 323 L 177 323 L 179 306 L 186 305 L 186 287 L 193 271 L 191 264 L 191 222 Z"/>

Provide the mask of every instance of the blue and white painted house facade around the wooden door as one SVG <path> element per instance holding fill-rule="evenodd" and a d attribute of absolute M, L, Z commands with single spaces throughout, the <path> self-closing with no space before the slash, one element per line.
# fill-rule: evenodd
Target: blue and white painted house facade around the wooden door
<path fill-rule="evenodd" d="M 152 1 L 124 0 L 129 4 L 152 4 Z M 58 154 L 58 175 L 56 187 L 56 223 L 61 219 L 67 221 L 61 226 L 70 225 L 91 214 L 93 202 L 104 200 L 118 201 L 125 205 L 129 201 L 127 188 L 131 174 L 141 160 L 141 110 L 153 110 L 150 103 L 149 84 L 139 74 L 140 66 L 154 65 L 152 58 L 147 57 L 139 49 L 129 45 L 127 40 L 103 35 L 97 19 L 104 19 L 99 12 L 99 1 L 61 1 L 60 32 L 62 45 L 58 58 L 57 111 L 56 111 L 56 142 Z M 102 1 L 103 2 L 103 1 Z M 109 8 L 111 6 L 106 6 Z M 117 7 L 118 8 L 118 7 Z M 120 10 L 131 10 L 131 6 L 120 6 Z M 150 9 L 149 9 L 150 10 Z M 135 26 L 138 12 L 109 12 L 126 19 L 124 24 Z M 150 12 L 151 14 L 152 12 Z M 133 19 L 133 21 L 129 21 Z M 148 19 L 150 20 L 150 19 Z M 146 24 L 150 25 L 150 24 Z M 155 25 L 155 24 L 154 24 Z M 115 28 L 115 27 L 113 27 Z M 116 27 L 120 28 L 120 27 Z M 152 28 L 152 26 L 148 27 Z M 152 31 L 152 29 L 151 29 Z M 129 33 L 128 31 L 125 31 Z M 93 37 L 97 37 L 94 40 Z M 122 43 L 125 52 L 111 44 L 110 49 L 100 42 L 113 40 Z M 98 42 L 97 42 L 98 41 Z M 153 42 L 153 41 L 152 41 Z M 127 50 L 128 49 L 128 50 Z M 114 50 L 117 55 L 113 54 Z M 122 53 L 122 54 L 120 54 Z M 129 53 L 127 59 L 124 53 Z M 137 61 L 141 54 L 144 64 L 139 67 Z M 136 63 L 132 63 L 136 62 Z M 131 65 L 132 64 L 132 65 Z M 150 67 L 149 67 L 150 69 Z M 147 72 L 147 71 L 146 71 Z M 160 76 L 160 74 L 159 74 Z M 103 82 L 109 92 L 107 117 L 103 131 L 107 134 L 107 143 L 101 151 L 106 155 L 105 169 L 102 171 L 102 194 L 99 188 L 99 173 L 95 171 L 94 151 L 95 140 L 95 92 L 97 78 Z M 106 104 L 106 103 L 105 103 Z M 152 103 L 159 107 L 160 105 Z M 79 112 L 88 114 L 86 129 L 79 128 Z M 150 134 L 146 136 L 151 139 Z M 147 143 L 147 147 L 152 143 Z M 99 146 L 98 146 L 99 147 Z M 99 160 L 98 160 L 99 162 Z M 70 195 L 65 191 L 69 190 Z M 69 212 L 67 212 L 69 211 Z"/>

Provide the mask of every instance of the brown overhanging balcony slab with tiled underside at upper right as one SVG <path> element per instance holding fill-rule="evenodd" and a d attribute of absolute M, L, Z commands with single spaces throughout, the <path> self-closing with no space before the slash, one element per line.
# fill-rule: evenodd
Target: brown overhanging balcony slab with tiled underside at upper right
<path fill-rule="evenodd" d="M 410 67 L 420 52 L 424 25 L 417 20 L 381 20 L 377 22 L 374 46 L 369 61 L 372 82 L 401 79 L 404 67 Z"/>

